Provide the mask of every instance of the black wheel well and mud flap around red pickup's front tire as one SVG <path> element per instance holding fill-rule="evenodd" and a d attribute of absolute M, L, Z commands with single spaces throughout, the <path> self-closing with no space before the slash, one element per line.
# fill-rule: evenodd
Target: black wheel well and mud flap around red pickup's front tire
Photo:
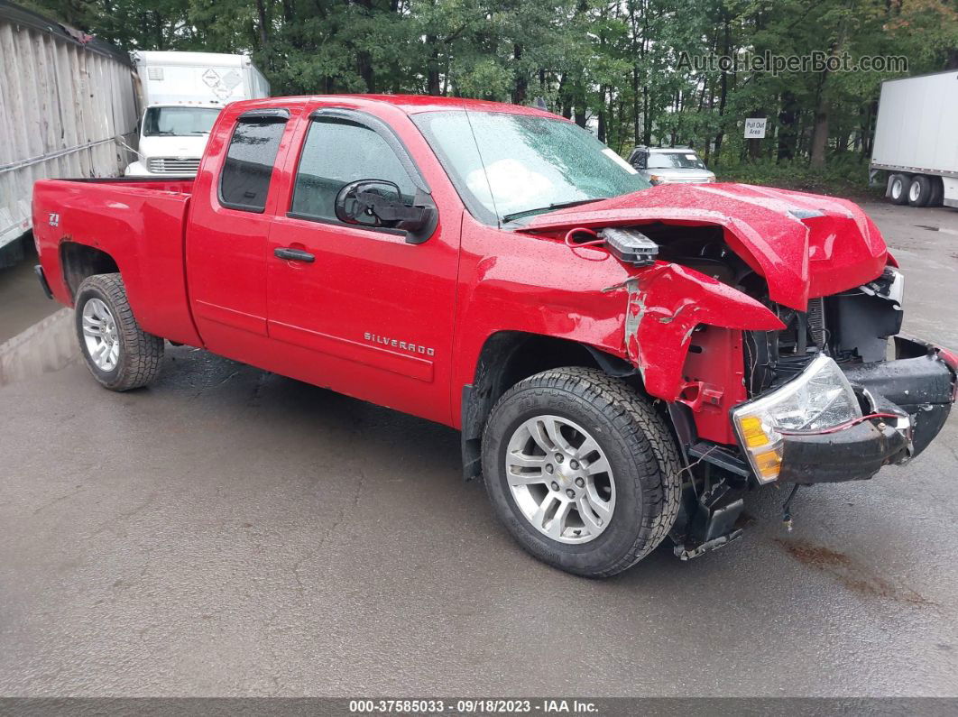
<path fill-rule="evenodd" d="M 497 331 L 487 338 L 476 362 L 472 383 L 462 389 L 463 476 L 481 472 L 482 432 L 496 401 L 524 378 L 563 366 L 601 369 L 626 378 L 641 391 L 638 370 L 625 359 L 571 339 L 526 331 Z"/>

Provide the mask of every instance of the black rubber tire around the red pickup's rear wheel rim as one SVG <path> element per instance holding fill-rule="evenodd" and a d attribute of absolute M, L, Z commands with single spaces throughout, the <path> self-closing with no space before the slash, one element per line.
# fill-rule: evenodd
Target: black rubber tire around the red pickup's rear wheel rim
<path fill-rule="evenodd" d="M 91 299 L 106 304 L 116 323 L 119 356 L 111 370 L 97 366 L 83 335 L 83 307 Z M 119 274 L 97 274 L 83 280 L 77 291 L 75 325 L 86 368 L 110 391 L 138 389 L 159 375 L 163 365 L 163 339 L 140 328 L 126 300 L 126 289 Z"/>

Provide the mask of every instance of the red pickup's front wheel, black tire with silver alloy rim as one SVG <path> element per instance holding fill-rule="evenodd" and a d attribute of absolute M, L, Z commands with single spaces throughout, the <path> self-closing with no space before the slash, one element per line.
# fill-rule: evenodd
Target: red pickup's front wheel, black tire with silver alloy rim
<path fill-rule="evenodd" d="M 678 513 L 672 435 L 648 399 L 601 370 L 547 370 L 513 386 L 490 413 L 482 463 L 500 520 L 563 571 L 626 570 Z"/>

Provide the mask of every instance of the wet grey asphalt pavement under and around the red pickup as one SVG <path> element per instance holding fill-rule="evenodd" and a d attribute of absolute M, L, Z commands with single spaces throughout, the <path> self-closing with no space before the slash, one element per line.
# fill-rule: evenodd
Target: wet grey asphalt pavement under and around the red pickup
<path fill-rule="evenodd" d="M 867 209 L 905 330 L 958 347 L 958 211 Z M 766 490 L 732 546 L 604 581 L 519 549 L 454 431 L 204 351 L 125 394 L 48 367 L 0 415 L 2 695 L 958 696 L 955 415 L 791 532 Z"/>

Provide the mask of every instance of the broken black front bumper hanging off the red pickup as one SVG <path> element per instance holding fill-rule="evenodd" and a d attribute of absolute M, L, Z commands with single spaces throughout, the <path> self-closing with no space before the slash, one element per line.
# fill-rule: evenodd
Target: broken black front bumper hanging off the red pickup
<path fill-rule="evenodd" d="M 784 438 L 779 482 L 844 482 L 872 478 L 884 465 L 918 456 L 945 425 L 955 399 L 951 354 L 896 337 L 894 361 L 845 369 L 869 413 L 895 415 L 833 433 Z"/>

